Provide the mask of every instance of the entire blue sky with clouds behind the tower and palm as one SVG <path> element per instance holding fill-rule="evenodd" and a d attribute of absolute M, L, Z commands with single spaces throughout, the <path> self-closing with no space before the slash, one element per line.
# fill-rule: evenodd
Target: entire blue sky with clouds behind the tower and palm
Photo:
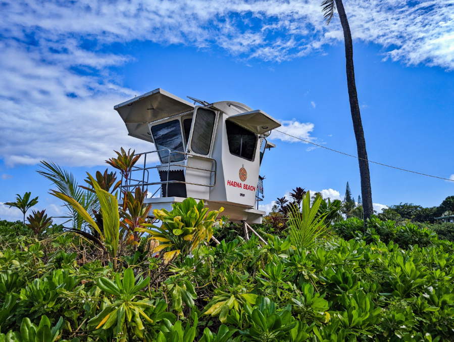
<path fill-rule="evenodd" d="M 452 1 L 348 1 L 359 102 L 370 160 L 454 179 Z M 61 216 L 35 170 L 54 161 L 83 182 L 127 136 L 113 106 L 161 87 L 208 102 L 262 109 L 283 130 L 356 154 L 337 16 L 319 2 L 3 2 L 0 23 L 0 218 L 2 203 L 39 196 Z M 273 133 L 265 201 L 296 186 L 343 199 L 360 194 L 357 160 Z M 436 206 L 454 182 L 370 165 L 376 209 Z"/>

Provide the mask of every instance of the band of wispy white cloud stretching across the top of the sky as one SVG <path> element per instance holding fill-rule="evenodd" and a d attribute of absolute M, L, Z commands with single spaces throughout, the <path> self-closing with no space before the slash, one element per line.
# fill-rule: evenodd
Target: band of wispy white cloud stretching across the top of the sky
<path fill-rule="evenodd" d="M 426 63 L 452 69 L 454 12 L 451 0 L 351 0 L 345 3 L 352 36 L 382 45 L 385 58 L 411 65 Z M 90 49 L 136 39 L 205 48 L 212 44 L 233 55 L 283 61 L 342 41 L 337 14 L 325 25 L 319 0 L 38 0 L 4 2 L 3 37 L 31 40 L 53 48 L 55 61 L 102 68 L 130 59 L 80 48 L 80 36 L 94 40 Z M 30 35 L 30 32 L 33 32 Z M 63 55 L 62 55 L 63 52 Z"/>

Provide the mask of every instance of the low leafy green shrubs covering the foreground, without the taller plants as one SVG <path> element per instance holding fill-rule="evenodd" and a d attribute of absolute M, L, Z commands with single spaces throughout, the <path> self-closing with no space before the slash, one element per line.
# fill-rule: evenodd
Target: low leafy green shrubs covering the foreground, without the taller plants
<path fill-rule="evenodd" d="M 1 221 L 0 340 L 452 340 L 454 245 L 417 226 L 362 227 L 337 223 L 352 238 L 312 249 L 277 235 L 200 243 L 168 268 L 142 237 L 114 269 L 60 226 L 36 236 Z"/>

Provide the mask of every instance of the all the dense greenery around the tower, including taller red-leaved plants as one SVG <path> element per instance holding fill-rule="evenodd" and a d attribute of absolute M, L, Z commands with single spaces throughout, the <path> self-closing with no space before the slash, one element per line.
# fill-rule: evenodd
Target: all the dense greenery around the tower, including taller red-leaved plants
<path fill-rule="evenodd" d="M 110 161 L 125 176 L 133 155 Z M 245 240 L 201 201 L 150 217 L 140 188 L 119 205 L 114 173 L 78 187 L 42 168 L 71 227 L 0 221 L 0 342 L 454 339 L 449 224 L 343 220 L 340 201 L 296 188 L 255 226 L 266 242 Z"/>

